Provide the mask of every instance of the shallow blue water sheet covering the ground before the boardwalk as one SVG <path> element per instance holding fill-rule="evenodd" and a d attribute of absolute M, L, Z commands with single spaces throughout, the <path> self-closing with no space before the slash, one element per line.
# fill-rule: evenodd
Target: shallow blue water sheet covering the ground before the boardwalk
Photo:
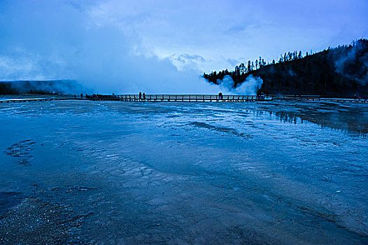
<path fill-rule="evenodd" d="M 1 104 L 0 207 L 68 207 L 67 242 L 367 243 L 367 122 L 364 104 Z"/>

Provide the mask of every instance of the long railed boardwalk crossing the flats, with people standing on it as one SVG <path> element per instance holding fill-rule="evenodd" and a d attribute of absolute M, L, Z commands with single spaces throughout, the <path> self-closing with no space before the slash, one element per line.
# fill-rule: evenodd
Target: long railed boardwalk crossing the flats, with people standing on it
<path fill-rule="evenodd" d="M 120 101 L 120 102 L 269 102 L 271 100 L 288 101 L 319 101 L 319 102 L 353 102 L 368 103 L 368 99 L 344 99 L 344 98 L 322 98 L 319 95 L 288 95 L 271 94 L 269 97 L 256 95 L 218 95 L 210 94 L 146 94 L 141 99 L 139 94 L 98 94 L 87 97 L 44 97 L 25 99 L 0 99 L 0 103 L 41 102 L 53 100 L 92 100 L 92 101 Z"/>

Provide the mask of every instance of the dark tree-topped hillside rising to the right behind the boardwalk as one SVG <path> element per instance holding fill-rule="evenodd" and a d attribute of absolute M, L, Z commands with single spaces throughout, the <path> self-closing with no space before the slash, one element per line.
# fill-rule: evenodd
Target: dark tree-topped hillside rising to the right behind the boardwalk
<path fill-rule="evenodd" d="M 219 84 L 224 76 L 231 76 L 234 87 L 249 75 L 262 78 L 258 93 L 264 94 L 320 94 L 325 97 L 368 96 L 368 40 L 360 39 L 350 45 L 328 48 L 322 52 L 302 56 L 302 52 L 288 52 L 278 62 L 267 64 L 260 57 L 255 62 L 239 64 L 234 71 L 213 71 L 203 77 Z"/>

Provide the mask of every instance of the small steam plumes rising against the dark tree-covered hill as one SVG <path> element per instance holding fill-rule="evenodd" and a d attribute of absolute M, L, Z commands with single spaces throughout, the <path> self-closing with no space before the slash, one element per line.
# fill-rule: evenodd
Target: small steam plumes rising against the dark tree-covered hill
<path fill-rule="evenodd" d="M 229 94 L 255 95 L 260 90 L 263 80 L 253 75 L 247 76 L 246 80 L 240 86 L 234 87 L 234 80 L 229 75 L 224 76 L 222 80 L 218 80 L 220 90 Z"/>

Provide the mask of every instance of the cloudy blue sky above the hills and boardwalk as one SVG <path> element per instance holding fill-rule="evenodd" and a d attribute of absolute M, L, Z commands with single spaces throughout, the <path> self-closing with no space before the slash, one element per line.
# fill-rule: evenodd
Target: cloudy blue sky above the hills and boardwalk
<path fill-rule="evenodd" d="M 213 93 L 201 74 L 368 37 L 367 0 L 0 0 L 0 80 Z"/>

